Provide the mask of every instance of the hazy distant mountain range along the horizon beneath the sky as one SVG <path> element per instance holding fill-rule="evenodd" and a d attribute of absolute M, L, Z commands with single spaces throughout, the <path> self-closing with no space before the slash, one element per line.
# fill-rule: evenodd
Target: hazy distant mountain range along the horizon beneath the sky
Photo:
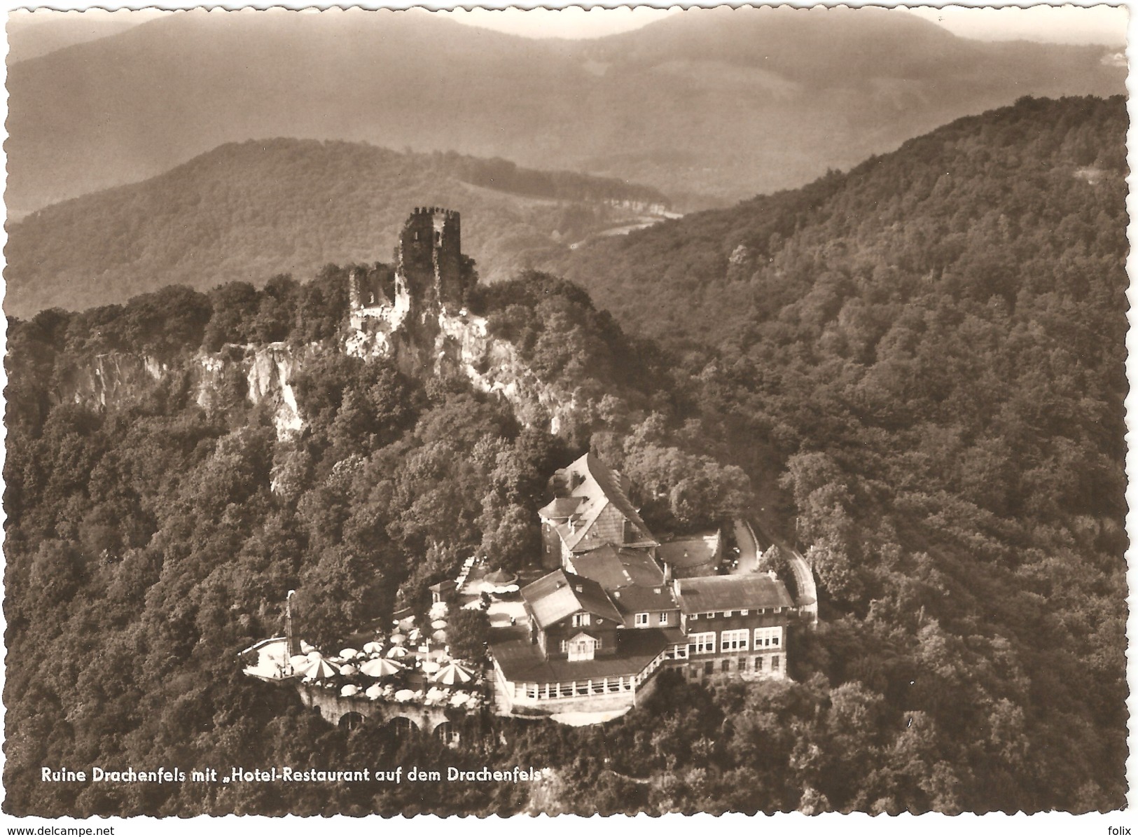
<path fill-rule="evenodd" d="M 297 137 L 502 156 L 707 206 L 695 196 L 797 186 L 1022 95 L 1123 92 L 1106 51 L 967 41 L 881 9 L 694 9 L 593 41 L 421 10 L 183 11 L 11 67 L 6 198 L 28 212 Z"/>

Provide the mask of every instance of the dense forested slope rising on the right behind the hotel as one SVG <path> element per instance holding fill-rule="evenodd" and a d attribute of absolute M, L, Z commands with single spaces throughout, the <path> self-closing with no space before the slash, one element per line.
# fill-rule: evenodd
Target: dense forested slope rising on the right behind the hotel
<path fill-rule="evenodd" d="M 816 664 L 943 736 L 964 810 L 1122 804 L 1125 128 L 1025 99 L 566 266 L 784 463 L 768 523 L 847 614 Z"/>

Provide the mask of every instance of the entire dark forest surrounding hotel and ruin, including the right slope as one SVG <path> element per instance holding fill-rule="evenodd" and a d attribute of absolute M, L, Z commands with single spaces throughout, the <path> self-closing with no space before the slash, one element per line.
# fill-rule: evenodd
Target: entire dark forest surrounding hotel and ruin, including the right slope
<path fill-rule="evenodd" d="M 174 288 L 13 322 L 5 810 L 1124 806 L 1124 129 L 1120 99 L 1026 99 L 567 265 L 663 347 L 547 276 L 479 292 L 495 334 L 587 396 L 566 437 L 459 380 L 339 354 L 341 281 L 274 280 L 236 317 L 232 288 Z M 240 393 L 207 412 L 178 381 L 105 412 L 51 397 L 59 369 L 108 348 L 270 337 L 325 347 L 297 378 L 297 440 Z M 653 526 L 747 512 L 798 538 L 823 618 L 790 638 L 793 682 L 667 681 L 602 727 L 490 717 L 452 750 L 330 728 L 238 673 L 289 589 L 319 625 L 347 625 L 472 549 L 517 566 L 544 478 L 585 448 L 694 501 L 658 502 Z M 39 780 L 98 763 L 552 774 Z"/>

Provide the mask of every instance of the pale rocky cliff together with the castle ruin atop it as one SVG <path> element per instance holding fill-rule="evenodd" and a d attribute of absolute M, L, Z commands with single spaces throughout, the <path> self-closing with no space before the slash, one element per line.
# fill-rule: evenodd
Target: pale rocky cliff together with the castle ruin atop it
<path fill-rule="evenodd" d="M 155 358 L 104 354 L 63 376 L 58 396 L 97 408 L 145 397 L 159 386 L 188 387 L 204 409 L 224 409 L 240 399 L 274 405 L 278 437 L 304 427 L 291 380 L 305 358 L 319 351 L 343 351 L 364 360 L 384 358 L 409 377 L 462 375 L 473 386 L 505 399 L 519 421 L 558 433 L 576 408 L 570 393 L 542 381 L 506 340 L 488 335 L 486 320 L 462 309 L 477 281 L 472 263 L 461 254 L 459 213 L 417 208 L 404 224 L 397 248 L 391 294 L 363 293 L 353 273 L 349 315 L 339 345 L 291 348 L 283 343 L 225 346 L 198 352 L 181 363 Z M 366 299 L 368 304 L 362 304 Z"/>

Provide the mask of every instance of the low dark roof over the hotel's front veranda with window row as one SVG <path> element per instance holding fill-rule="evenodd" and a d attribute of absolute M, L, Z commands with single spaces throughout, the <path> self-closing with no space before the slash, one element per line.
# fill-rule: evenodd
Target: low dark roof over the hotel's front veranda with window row
<path fill-rule="evenodd" d="M 675 640 L 678 641 L 678 640 Z M 545 659 L 542 649 L 528 640 L 508 640 L 490 646 L 506 680 L 513 683 L 567 683 L 574 680 L 597 680 L 640 674 L 665 649 L 668 640 L 662 631 L 621 631 L 617 653 L 611 657 L 579 659 Z"/>

